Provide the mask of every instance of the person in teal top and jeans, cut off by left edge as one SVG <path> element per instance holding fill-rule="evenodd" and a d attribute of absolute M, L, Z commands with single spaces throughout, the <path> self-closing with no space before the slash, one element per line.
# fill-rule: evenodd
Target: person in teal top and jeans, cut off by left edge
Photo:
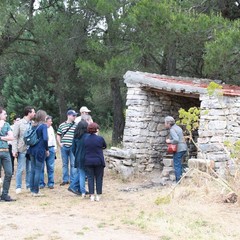
<path fill-rule="evenodd" d="M 1 201 L 14 201 L 9 195 L 9 188 L 12 179 L 12 162 L 8 149 L 8 141 L 14 139 L 10 124 L 6 122 L 7 113 L 0 107 L 0 165 L 4 170 L 4 180 L 2 185 Z"/>

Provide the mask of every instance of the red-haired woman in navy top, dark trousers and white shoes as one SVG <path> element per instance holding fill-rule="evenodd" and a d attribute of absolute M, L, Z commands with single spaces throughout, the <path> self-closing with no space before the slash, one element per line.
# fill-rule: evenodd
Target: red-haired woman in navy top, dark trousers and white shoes
<path fill-rule="evenodd" d="M 88 133 L 84 140 L 85 144 L 85 168 L 88 178 L 88 190 L 91 201 L 99 201 L 102 194 L 103 174 L 105 167 L 105 160 L 103 156 L 103 149 L 107 144 L 103 137 L 96 133 L 99 131 L 97 123 L 93 122 L 88 125 Z M 94 196 L 94 185 L 96 181 L 96 196 Z"/>

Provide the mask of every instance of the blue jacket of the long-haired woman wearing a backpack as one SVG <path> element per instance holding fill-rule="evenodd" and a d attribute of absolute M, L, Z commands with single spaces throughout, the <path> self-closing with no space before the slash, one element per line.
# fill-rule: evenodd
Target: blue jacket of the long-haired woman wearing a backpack
<path fill-rule="evenodd" d="M 37 128 L 37 126 L 33 126 L 32 128 Z M 37 135 L 39 137 L 39 142 L 34 146 L 30 146 L 27 152 L 36 158 L 37 161 L 44 162 L 46 151 L 48 151 L 48 133 L 46 124 L 43 123 L 38 127 Z"/>

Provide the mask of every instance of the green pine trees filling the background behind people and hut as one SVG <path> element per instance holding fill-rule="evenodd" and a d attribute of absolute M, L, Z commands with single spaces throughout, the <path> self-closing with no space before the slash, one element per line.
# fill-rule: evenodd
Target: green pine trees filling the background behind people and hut
<path fill-rule="evenodd" d="M 87 105 L 117 144 L 127 70 L 239 84 L 239 17 L 235 0 L 3 0 L 0 103 L 57 124 Z"/>

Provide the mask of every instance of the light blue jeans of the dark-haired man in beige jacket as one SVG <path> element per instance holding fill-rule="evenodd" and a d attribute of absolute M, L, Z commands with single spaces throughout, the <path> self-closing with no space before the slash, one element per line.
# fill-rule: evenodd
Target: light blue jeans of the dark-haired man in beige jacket
<path fill-rule="evenodd" d="M 26 152 L 18 153 L 16 173 L 16 188 L 22 188 L 22 174 L 26 169 L 26 188 L 30 187 L 31 162 L 26 159 Z"/>

